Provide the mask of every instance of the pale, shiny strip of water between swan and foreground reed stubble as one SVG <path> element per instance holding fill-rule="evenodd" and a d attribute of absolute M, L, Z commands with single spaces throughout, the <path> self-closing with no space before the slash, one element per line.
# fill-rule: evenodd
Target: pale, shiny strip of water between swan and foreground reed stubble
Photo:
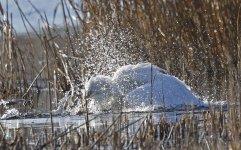
<path fill-rule="evenodd" d="M 140 123 L 145 119 L 145 117 L 149 113 L 126 113 L 122 116 L 122 128 L 126 126 L 125 117 L 128 118 L 128 130 L 129 133 L 134 133 Z M 179 113 L 181 114 L 181 113 Z M 92 114 L 89 116 L 89 119 L 93 119 L 90 122 L 90 129 L 102 129 L 103 127 L 109 126 L 113 123 L 113 120 L 119 116 L 119 114 Z M 155 124 L 158 124 L 160 119 L 164 118 L 169 122 L 175 122 L 176 120 L 181 119 L 182 115 L 177 115 L 176 112 L 168 112 L 168 113 L 153 113 L 152 118 Z M 31 143 L 34 137 L 42 137 L 46 135 L 50 135 L 51 132 L 51 121 L 50 118 L 35 118 L 35 119 L 15 119 L 15 120 L 0 120 L 0 123 L 5 131 L 6 139 L 13 139 L 16 134 L 22 134 L 24 137 L 29 138 L 29 142 Z M 72 126 L 79 127 L 77 131 L 83 129 L 85 123 L 84 116 L 56 116 L 53 117 L 53 125 L 55 134 L 60 134 L 66 131 L 67 128 Z M 44 141 L 42 141 L 44 142 Z M 30 144 L 29 143 L 29 144 Z M 33 142 L 34 143 L 34 142 Z"/>

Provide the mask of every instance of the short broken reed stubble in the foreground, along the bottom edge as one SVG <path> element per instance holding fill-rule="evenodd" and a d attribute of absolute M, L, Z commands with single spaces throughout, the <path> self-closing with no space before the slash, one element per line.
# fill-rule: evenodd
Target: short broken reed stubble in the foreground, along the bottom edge
<path fill-rule="evenodd" d="M 43 128 L 19 128 L 14 139 L 5 138 L 1 127 L 1 149 L 239 149 L 239 124 L 230 121 L 227 112 L 185 111 L 181 119 L 170 121 L 161 117 L 153 119 L 153 113 L 143 113 L 130 121 L 131 113 L 113 115 L 112 122 L 104 122 L 85 130 L 85 123 L 70 125 L 65 131 Z M 93 117 L 89 122 L 94 121 Z M 237 119 L 237 117 L 236 117 Z M 119 122 L 121 121 L 121 122 Z M 89 135 L 87 135 L 89 134 Z"/>

